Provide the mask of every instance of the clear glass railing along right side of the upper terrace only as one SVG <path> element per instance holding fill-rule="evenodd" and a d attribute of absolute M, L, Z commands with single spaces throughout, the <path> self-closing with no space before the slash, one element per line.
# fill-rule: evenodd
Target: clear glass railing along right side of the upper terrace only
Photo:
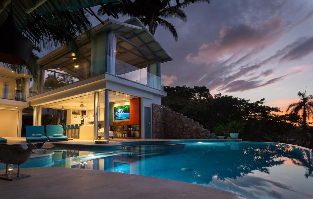
<path fill-rule="evenodd" d="M 107 56 L 107 60 L 109 58 L 111 57 Z M 115 67 L 107 67 L 108 73 L 163 91 L 163 79 L 147 72 L 147 68 L 140 69 L 118 59 L 110 62 L 108 63 L 115 62 Z"/>

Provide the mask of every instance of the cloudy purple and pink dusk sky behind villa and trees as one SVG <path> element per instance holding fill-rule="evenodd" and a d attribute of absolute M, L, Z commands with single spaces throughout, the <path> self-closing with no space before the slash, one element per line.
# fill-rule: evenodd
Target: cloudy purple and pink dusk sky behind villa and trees
<path fill-rule="evenodd" d="M 162 27 L 156 30 L 173 58 L 162 64 L 165 85 L 204 85 L 211 94 L 266 98 L 266 105 L 285 111 L 306 86 L 313 94 L 312 8 L 312 0 L 212 0 L 185 8 L 187 22 L 168 20 L 178 42 Z"/>

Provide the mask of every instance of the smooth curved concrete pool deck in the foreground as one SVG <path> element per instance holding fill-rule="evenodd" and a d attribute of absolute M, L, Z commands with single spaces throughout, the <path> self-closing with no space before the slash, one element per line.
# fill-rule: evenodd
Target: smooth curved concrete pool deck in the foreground
<path fill-rule="evenodd" d="M 117 172 L 38 167 L 22 168 L 21 173 L 32 177 L 0 180 L 2 198 L 247 198 L 187 182 Z"/>

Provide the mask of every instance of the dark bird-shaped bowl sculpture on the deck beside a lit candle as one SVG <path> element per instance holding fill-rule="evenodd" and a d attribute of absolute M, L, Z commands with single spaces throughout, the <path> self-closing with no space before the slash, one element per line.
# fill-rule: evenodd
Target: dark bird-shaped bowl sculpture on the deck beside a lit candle
<path fill-rule="evenodd" d="M 33 152 L 34 149 L 40 149 L 44 146 L 44 142 L 40 142 L 37 144 L 0 144 L 0 162 L 6 164 L 5 174 L 0 175 L 0 179 L 4 180 L 17 180 L 26 177 L 30 177 L 29 175 L 20 174 L 20 166 L 21 164 L 27 162 Z M 8 165 L 18 165 L 18 173 L 12 173 L 12 175 L 8 175 Z M 16 174 L 16 177 L 13 177 L 13 174 Z"/>

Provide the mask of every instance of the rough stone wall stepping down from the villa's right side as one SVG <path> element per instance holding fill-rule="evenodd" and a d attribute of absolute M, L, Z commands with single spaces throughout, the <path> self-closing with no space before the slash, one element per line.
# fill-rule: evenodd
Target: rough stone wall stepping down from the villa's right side
<path fill-rule="evenodd" d="M 165 106 L 152 105 L 152 138 L 211 139 L 210 131 L 199 122 L 171 111 Z"/>

